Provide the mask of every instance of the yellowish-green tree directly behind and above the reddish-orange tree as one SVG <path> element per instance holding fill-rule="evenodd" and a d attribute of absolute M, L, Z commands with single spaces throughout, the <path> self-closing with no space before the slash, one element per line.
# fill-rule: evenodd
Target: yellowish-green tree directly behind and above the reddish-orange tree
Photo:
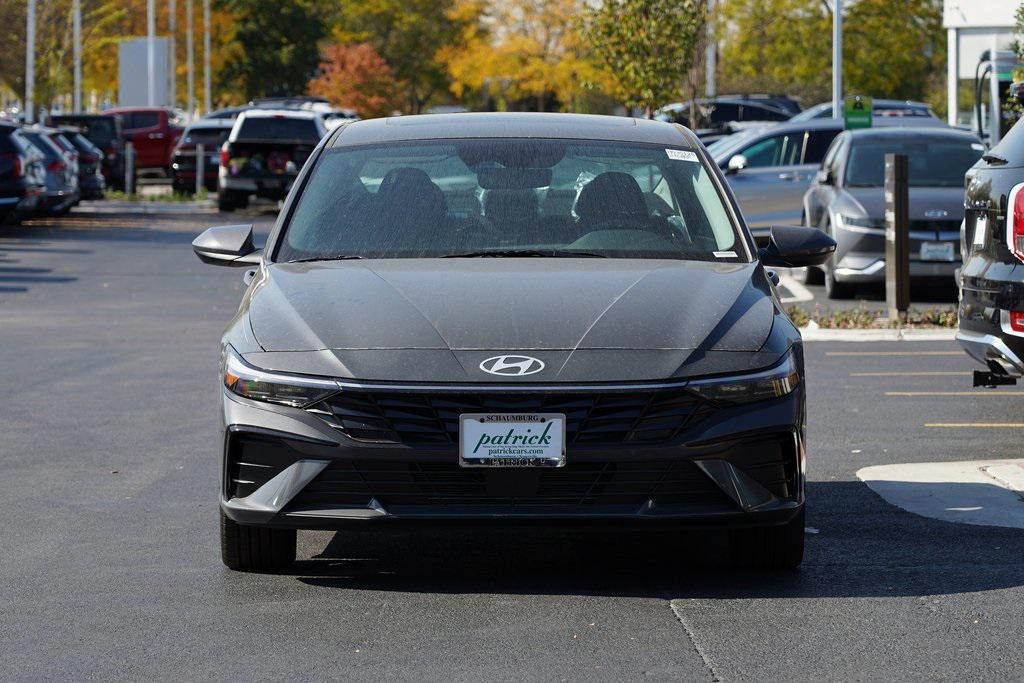
<path fill-rule="evenodd" d="M 455 0 L 347 0 L 341 4 L 334 38 L 339 43 L 370 43 L 398 80 L 406 110 L 419 114 L 435 93 L 447 89 L 447 71 L 438 52 L 463 35 L 456 9 Z"/>

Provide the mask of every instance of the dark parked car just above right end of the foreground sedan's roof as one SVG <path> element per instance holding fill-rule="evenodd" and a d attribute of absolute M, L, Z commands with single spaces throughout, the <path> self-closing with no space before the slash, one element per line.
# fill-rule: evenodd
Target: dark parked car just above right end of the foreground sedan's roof
<path fill-rule="evenodd" d="M 799 104 L 792 99 L 782 97 L 751 97 L 721 96 L 713 99 L 697 99 L 689 102 L 677 102 L 664 106 L 654 113 L 658 121 L 671 121 L 683 126 L 690 125 L 690 109 L 698 108 L 697 124 L 694 133 L 705 143 L 736 132 L 734 124 L 751 122 L 786 121 L 800 111 Z"/>

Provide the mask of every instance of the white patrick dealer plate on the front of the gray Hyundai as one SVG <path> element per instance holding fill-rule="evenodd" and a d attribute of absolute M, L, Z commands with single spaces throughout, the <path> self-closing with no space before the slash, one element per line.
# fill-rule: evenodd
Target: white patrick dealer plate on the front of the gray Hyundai
<path fill-rule="evenodd" d="M 565 416 L 560 413 L 459 417 L 462 467 L 562 467 Z"/>

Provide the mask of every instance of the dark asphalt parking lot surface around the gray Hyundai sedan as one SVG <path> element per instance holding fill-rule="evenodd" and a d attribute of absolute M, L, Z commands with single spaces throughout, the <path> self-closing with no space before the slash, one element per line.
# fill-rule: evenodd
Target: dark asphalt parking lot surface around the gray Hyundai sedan
<path fill-rule="evenodd" d="M 702 535 L 466 528 L 303 532 L 287 574 L 226 570 L 217 341 L 242 271 L 202 265 L 189 242 L 240 216 L 187 211 L 0 228 L 5 678 L 991 680 L 1024 669 L 1024 530 L 906 512 L 857 476 L 1021 457 L 1024 388 L 972 389 L 952 342 L 807 344 L 810 528 L 797 572 L 723 570 L 709 559 L 718 540 Z M 272 216 L 252 217 L 265 234 Z M 920 485 L 926 498 L 950 489 Z"/>

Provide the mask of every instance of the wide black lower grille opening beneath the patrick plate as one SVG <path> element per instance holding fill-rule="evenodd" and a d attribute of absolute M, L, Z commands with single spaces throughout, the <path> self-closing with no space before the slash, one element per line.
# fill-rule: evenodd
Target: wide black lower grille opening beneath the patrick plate
<path fill-rule="evenodd" d="M 690 461 L 575 463 L 557 469 L 483 470 L 451 463 L 336 461 L 311 481 L 290 508 L 364 507 L 377 500 L 402 506 L 444 508 L 640 506 L 728 504 Z"/>

